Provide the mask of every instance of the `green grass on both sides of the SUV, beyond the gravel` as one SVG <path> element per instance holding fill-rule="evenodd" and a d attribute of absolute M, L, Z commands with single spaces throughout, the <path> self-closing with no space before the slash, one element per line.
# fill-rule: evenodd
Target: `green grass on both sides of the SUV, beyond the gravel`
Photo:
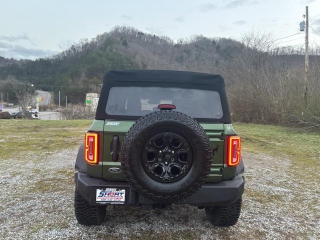
<path fill-rule="evenodd" d="M 0 156 L 8 158 L 19 151 L 52 152 L 78 145 L 91 123 L 92 120 L 0 120 Z M 320 133 L 273 125 L 233 126 L 242 137 L 244 151 L 319 163 Z"/>

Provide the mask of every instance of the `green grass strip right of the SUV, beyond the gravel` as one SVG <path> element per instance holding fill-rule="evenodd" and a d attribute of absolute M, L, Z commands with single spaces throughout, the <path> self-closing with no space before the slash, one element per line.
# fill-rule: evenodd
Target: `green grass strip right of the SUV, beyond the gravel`
<path fill-rule="evenodd" d="M 242 137 L 244 151 L 289 156 L 304 164 L 319 163 L 320 133 L 274 125 L 235 123 L 233 126 Z"/>

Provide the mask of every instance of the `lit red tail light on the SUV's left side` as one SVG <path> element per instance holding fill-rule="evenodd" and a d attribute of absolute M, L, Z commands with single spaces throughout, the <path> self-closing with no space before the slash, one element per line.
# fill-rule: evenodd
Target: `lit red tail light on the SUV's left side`
<path fill-rule="evenodd" d="M 90 164 L 99 162 L 99 133 L 87 132 L 84 137 L 84 158 Z"/>

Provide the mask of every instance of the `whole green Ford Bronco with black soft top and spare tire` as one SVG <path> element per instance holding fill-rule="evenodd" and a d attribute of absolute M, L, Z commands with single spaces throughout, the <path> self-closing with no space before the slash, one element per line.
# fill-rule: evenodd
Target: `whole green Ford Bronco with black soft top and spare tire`
<path fill-rule="evenodd" d="M 234 225 L 244 172 L 220 75 L 167 70 L 109 71 L 80 146 L 74 211 L 98 225 L 114 206 L 204 208 Z"/>

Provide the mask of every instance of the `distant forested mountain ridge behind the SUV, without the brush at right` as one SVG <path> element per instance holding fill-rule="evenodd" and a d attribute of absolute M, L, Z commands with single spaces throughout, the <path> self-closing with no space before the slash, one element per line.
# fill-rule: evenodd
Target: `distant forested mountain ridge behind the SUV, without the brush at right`
<path fill-rule="evenodd" d="M 9 75 L 29 81 L 44 90 L 61 90 L 71 101 L 83 101 L 110 69 L 179 69 L 215 72 L 227 51 L 240 44 L 234 40 L 194 36 L 173 42 L 168 37 L 146 34 L 130 27 L 83 39 L 48 58 L 20 60 L 0 68 L 0 78 Z"/>

